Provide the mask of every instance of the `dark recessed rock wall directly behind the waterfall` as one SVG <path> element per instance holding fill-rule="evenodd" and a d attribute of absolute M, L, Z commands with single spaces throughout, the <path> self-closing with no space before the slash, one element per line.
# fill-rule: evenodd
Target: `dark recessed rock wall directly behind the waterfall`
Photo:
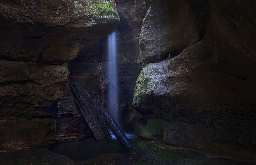
<path fill-rule="evenodd" d="M 138 44 L 146 8 L 143 0 L 118 1 L 116 6 L 120 16 L 116 30 L 120 113 L 124 114 L 120 120 L 125 121 L 123 128 L 134 130 L 136 121 L 141 117 L 131 104 L 135 82 L 143 67 Z M 83 44 L 86 45 L 85 49 L 68 63 L 70 79 L 81 84 L 106 107 L 109 83 L 108 38 L 83 41 Z"/>

